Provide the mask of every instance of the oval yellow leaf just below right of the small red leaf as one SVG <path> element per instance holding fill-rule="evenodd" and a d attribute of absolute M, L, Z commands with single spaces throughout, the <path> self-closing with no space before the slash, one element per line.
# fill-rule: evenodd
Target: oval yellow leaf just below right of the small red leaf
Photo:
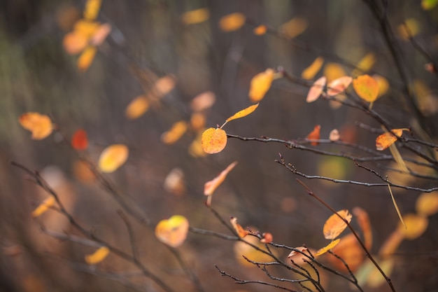
<path fill-rule="evenodd" d="M 123 144 L 113 144 L 102 151 L 99 157 L 99 169 L 101 172 L 114 172 L 128 159 L 129 150 Z"/>

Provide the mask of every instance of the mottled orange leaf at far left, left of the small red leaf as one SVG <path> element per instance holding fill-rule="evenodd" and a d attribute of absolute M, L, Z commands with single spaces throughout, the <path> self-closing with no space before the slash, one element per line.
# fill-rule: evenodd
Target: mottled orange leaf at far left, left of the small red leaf
<path fill-rule="evenodd" d="M 41 140 L 48 137 L 53 130 L 52 120 L 48 116 L 41 115 L 41 113 L 23 113 L 18 122 L 24 129 L 32 133 L 32 139 Z"/>

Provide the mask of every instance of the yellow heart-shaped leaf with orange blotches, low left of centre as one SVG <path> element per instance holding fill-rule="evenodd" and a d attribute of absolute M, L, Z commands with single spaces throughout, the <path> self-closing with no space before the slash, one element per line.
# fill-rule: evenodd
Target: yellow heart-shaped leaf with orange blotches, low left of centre
<path fill-rule="evenodd" d="M 169 219 L 160 221 L 155 227 L 155 236 L 160 242 L 171 247 L 178 247 L 187 238 L 189 221 L 181 215 L 171 216 Z"/>

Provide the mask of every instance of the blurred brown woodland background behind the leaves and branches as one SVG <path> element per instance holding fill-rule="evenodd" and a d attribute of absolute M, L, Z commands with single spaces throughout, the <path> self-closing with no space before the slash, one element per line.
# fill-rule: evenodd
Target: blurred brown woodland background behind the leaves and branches
<path fill-rule="evenodd" d="M 327 243 L 323 224 L 330 216 L 306 195 L 297 178 L 274 160 L 282 153 L 300 172 L 339 179 L 378 182 L 353 162 L 290 150 L 281 144 L 229 139 L 216 155 L 196 157 L 188 148 L 195 132 L 186 133 L 175 144 L 160 137 L 178 120 L 190 119 L 190 101 L 211 91 L 216 103 L 207 112 L 207 127 L 222 125 L 233 113 L 250 105 L 250 79 L 265 69 L 281 66 L 300 78 L 316 57 L 337 64 L 349 75 L 351 64 L 372 53 L 376 62 L 370 74 L 387 78 L 390 88 L 374 105 L 395 127 L 409 125 L 409 111 L 400 102 L 402 81 L 366 1 L 351 0 L 104 0 L 97 20 L 111 24 L 112 31 L 99 47 L 86 71 L 76 67 L 77 56 L 66 53 L 62 43 L 74 22 L 81 17 L 84 1 L 15 0 L 0 4 L 0 289 L 2 291 L 131 291 L 117 281 L 95 275 L 83 265 L 83 256 L 93 249 L 53 239 L 41 232 L 38 221 L 58 232 L 78 234 L 69 222 L 55 213 L 31 218 L 31 210 L 47 194 L 27 180 L 10 161 L 36 169 L 57 190 L 67 209 L 90 230 L 115 246 L 129 251 L 124 223 L 117 215 L 118 202 L 78 170 L 78 155 L 62 143 L 59 133 L 34 141 L 18 123 L 27 111 L 48 114 L 60 131 L 70 137 L 78 128 L 87 131 L 87 154 L 97 161 L 110 144 L 126 144 L 129 159 L 106 177 L 124 194 L 124 200 L 150 220 L 149 227 L 132 225 L 141 260 L 160 274 L 175 291 L 195 291 L 174 256 L 154 235 L 155 224 L 174 214 L 186 216 L 190 225 L 206 230 L 227 230 L 204 206 L 204 183 L 229 163 L 239 164 L 216 191 L 213 207 L 224 217 L 236 216 L 243 226 L 271 232 L 274 241 L 288 246 Z M 438 10 L 424 11 L 419 1 L 389 1 L 388 19 L 397 34 L 398 25 L 414 23 L 416 41 L 437 58 Z M 208 8 L 209 20 L 185 25 L 181 15 Z M 247 23 L 234 32 L 223 32 L 218 21 L 229 13 L 246 15 Z M 272 33 L 293 18 L 300 18 L 302 33 L 293 39 Z M 253 29 L 266 24 L 271 33 L 257 36 Z M 428 120 L 435 120 L 437 76 L 423 68 L 428 62 L 412 44 L 397 35 L 411 81 L 425 101 Z M 131 120 L 125 109 L 145 92 L 156 77 L 173 74 L 176 87 L 143 116 Z M 324 68 L 316 77 L 324 74 Z M 310 82 L 310 81 L 309 81 Z M 311 83 L 309 83 L 311 84 Z M 414 84 L 414 83 L 413 83 Z M 379 127 L 364 113 L 344 106 L 334 108 L 325 100 L 306 104 L 308 87 L 279 79 L 250 116 L 226 125 L 229 134 L 242 137 L 306 137 L 321 125 L 321 137 L 337 128 L 348 141 L 374 147 L 375 134 L 355 126 Z M 432 130 L 432 134 L 434 130 Z M 437 134 L 435 129 L 435 134 Z M 435 136 L 436 137 L 436 136 Z M 351 151 L 320 145 L 331 151 Z M 379 167 L 379 165 L 370 165 Z M 177 190 L 164 186 L 173 170 L 183 174 Z M 382 171 L 384 173 L 384 171 Z M 397 227 L 398 218 L 387 188 L 365 188 L 327 181 L 305 181 L 334 209 L 362 207 L 368 212 L 374 232 L 373 253 Z M 405 181 L 413 186 L 433 187 L 437 181 Z M 402 213 L 414 211 L 419 193 L 394 190 Z M 395 254 L 391 277 L 397 291 L 437 291 L 438 216 L 431 216 L 428 229 L 418 239 L 405 241 Z M 204 291 L 267 291 L 266 286 L 239 286 L 220 277 L 218 265 L 242 279 L 264 279 L 255 267 L 241 265 L 234 242 L 190 233 L 178 248 L 188 266 L 198 275 Z M 287 256 L 286 254 L 282 255 Z M 99 264 L 115 273 L 134 267 L 110 255 Z M 287 271 L 278 270 L 288 278 Z M 328 277 L 328 291 L 342 287 Z M 133 279 L 147 291 L 159 291 L 147 279 Z M 369 291 L 388 291 L 387 285 Z"/>

